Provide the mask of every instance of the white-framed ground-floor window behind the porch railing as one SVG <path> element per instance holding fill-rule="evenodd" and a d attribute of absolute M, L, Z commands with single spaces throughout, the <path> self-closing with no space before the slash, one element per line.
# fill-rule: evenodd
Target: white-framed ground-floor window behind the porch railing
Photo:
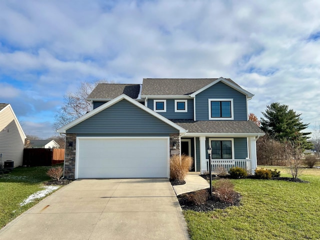
<path fill-rule="evenodd" d="M 224 138 L 209 140 L 211 143 L 211 158 L 212 159 L 233 159 L 233 139 Z"/>

